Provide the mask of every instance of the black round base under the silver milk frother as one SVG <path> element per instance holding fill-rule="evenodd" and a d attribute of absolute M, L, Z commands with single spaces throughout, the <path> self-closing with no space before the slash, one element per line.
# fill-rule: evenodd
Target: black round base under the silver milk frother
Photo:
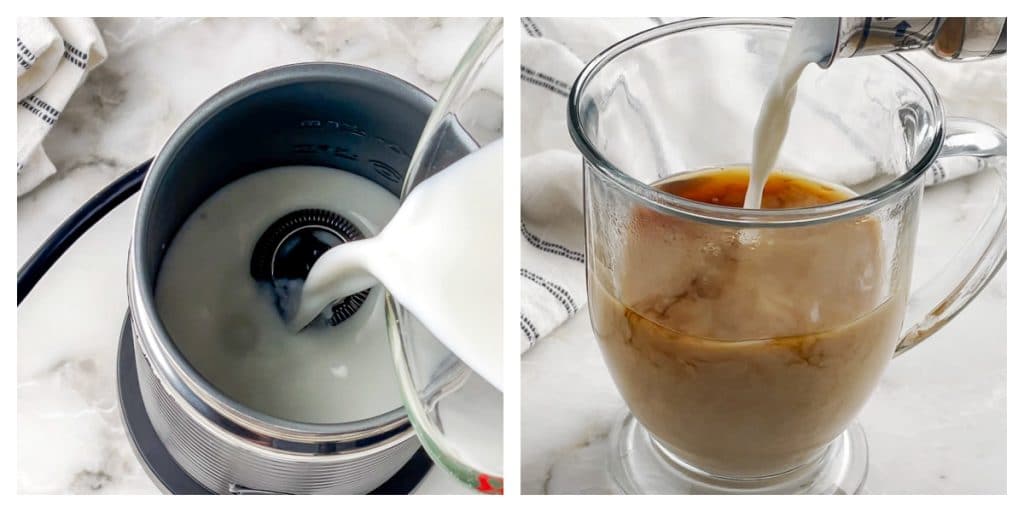
<path fill-rule="evenodd" d="M 164 493 L 172 495 L 209 495 L 206 487 L 181 469 L 157 436 L 153 423 L 145 413 L 139 392 L 135 369 L 135 346 L 132 340 L 131 319 L 125 318 L 118 344 L 118 398 L 121 401 L 121 419 L 135 456 L 150 479 Z M 372 495 L 408 495 L 426 476 L 433 463 L 423 449 L 390 479 L 371 492 Z"/>

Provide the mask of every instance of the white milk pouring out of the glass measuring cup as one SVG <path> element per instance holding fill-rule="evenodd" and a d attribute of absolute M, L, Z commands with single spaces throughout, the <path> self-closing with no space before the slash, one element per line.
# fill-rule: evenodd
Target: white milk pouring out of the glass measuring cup
<path fill-rule="evenodd" d="M 452 352 L 502 389 L 502 140 L 416 186 L 373 239 L 316 260 L 293 326 L 381 284 Z"/>

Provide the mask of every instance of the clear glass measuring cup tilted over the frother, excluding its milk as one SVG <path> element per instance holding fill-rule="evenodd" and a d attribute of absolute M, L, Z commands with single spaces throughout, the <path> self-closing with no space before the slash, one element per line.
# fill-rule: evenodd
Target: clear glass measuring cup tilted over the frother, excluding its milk
<path fill-rule="evenodd" d="M 402 198 L 465 156 L 446 148 L 478 148 L 502 136 L 502 18 L 488 19 L 457 66 L 413 154 Z M 462 483 L 501 494 L 502 392 L 422 329 L 390 294 L 385 306 L 402 401 L 427 454 Z"/>

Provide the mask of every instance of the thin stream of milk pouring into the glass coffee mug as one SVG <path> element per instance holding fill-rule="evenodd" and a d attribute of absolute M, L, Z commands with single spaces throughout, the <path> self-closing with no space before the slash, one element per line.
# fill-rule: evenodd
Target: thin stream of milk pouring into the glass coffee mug
<path fill-rule="evenodd" d="M 775 165 L 782 139 L 790 128 L 790 114 L 797 97 L 797 81 L 809 63 L 820 62 L 831 52 L 835 43 L 834 18 L 799 18 L 778 63 L 778 72 L 761 104 L 761 115 L 754 130 L 754 158 L 751 182 L 743 198 L 743 208 L 761 208 L 768 173 Z"/>

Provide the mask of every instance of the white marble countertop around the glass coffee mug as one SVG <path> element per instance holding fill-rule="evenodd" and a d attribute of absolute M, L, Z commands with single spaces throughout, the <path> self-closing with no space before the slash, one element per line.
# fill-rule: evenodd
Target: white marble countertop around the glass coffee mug
<path fill-rule="evenodd" d="M 1006 129 L 1005 59 L 945 65 L 927 55 L 910 58 L 942 93 L 948 115 Z M 986 213 L 992 196 L 981 180 L 987 179 L 926 193 L 915 284 L 933 275 Z M 626 406 L 586 310 L 540 341 L 521 365 L 522 493 L 611 492 L 607 436 Z M 859 416 L 870 446 L 864 492 L 1005 494 L 1006 378 L 1004 268 L 954 321 L 887 370 Z"/>

